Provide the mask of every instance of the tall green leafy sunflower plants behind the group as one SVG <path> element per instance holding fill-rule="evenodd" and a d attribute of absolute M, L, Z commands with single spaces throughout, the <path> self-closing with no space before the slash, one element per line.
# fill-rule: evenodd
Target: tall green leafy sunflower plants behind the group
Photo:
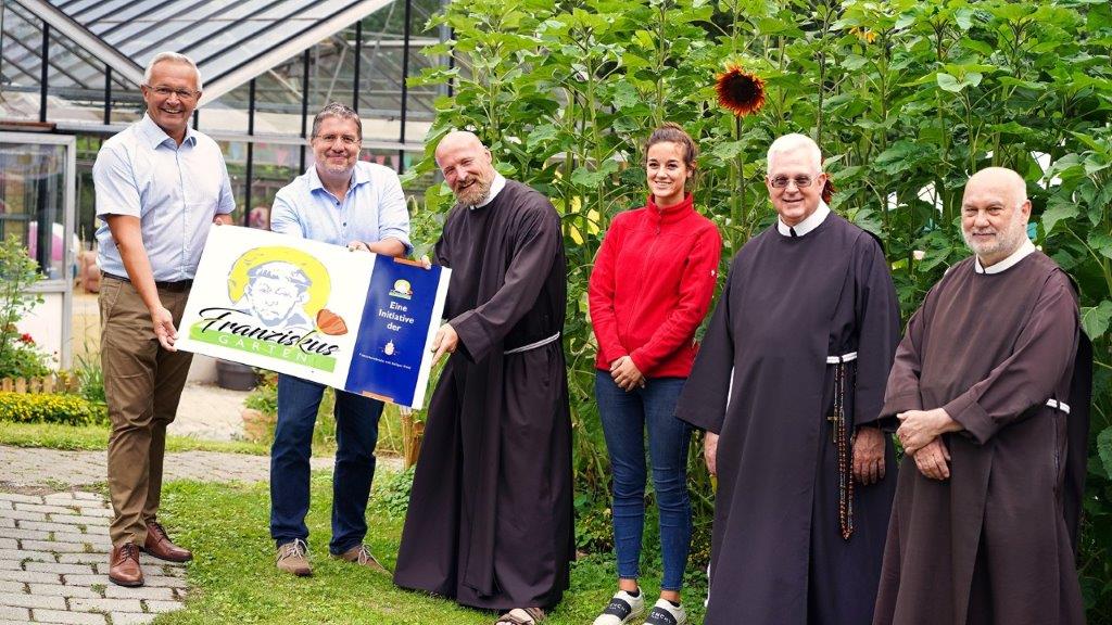
<path fill-rule="evenodd" d="M 605 547 L 608 468 L 592 391 L 586 282 L 609 220 L 641 206 L 642 142 L 664 120 L 697 138 L 696 204 L 725 239 L 723 269 L 772 222 L 764 151 L 814 137 L 838 188 L 833 208 L 886 245 L 904 319 L 967 256 L 961 194 L 982 167 L 1029 180 L 1035 242 L 1078 281 L 1096 354 L 1082 579 L 1090 622 L 1112 622 L 1112 3 L 1108 0 L 456 0 L 430 23 L 453 65 L 410 85 L 450 81 L 428 137 L 475 130 L 499 170 L 552 198 L 569 258 L 566 346 L 576 429 L 580 547 Z M 764 109 L 718 108 L 728 61 L 767 85 Z M 418 222 L 450 205 L 429 189 Z M 925 256 L 916 260 L 915 250 Z M 712 493 L 693 449 L 696 563 Z"/>

